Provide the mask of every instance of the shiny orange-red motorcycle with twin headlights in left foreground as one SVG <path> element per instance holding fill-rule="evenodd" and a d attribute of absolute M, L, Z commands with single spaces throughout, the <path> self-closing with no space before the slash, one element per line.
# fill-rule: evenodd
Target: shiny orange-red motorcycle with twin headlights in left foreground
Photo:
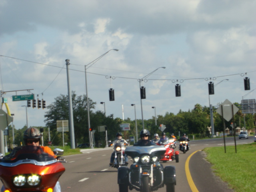
<path fill-rule="evenodd" d="M 55 149 L 62 155 L 63 150 Z M 11 154 L 0 155 L 0 179 L 5 192 L 52 192 L 65 168 L 40 146 L 16 147 Z"/>

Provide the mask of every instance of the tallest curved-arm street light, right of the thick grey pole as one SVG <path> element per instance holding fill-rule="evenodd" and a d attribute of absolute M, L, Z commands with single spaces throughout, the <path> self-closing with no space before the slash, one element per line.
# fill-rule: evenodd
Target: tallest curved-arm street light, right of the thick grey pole
<path fill-rule="evenodd" d="M 96 58 L 95 60 L 93 60 L 92 62 L 88 63 L 87 65 L 84 65 L 84 74 L 85 74 L 85 88 L 86 88 L 86 102 L 87 102 L 87 116 L 88 116 L 88 132 L 89 132 L 89 142 L 90 142 L 90 147 L 93 149 L 93 145 L 92 145 L 92 133 L 90 131 L 91 125 L 90 125 L 90 106 L 89 106 L 89 101 L 88 101 L 88 90 L 87 90 L 87 78 L 86 78 L 86 66 L 90 65 L 91 66 L 96 63 L 98 60 L 100 60 L 103 56 L 105 56 L 108 52 L 110 52 L 111 50 L 115 50 L 118 51 L 118 49 L 110 49 L 108 50 L 106 53 L 102 54 L 101 56 L 99 56 L 98 58 Z M 91 66 L 88 66 L 91 67 Z"/>

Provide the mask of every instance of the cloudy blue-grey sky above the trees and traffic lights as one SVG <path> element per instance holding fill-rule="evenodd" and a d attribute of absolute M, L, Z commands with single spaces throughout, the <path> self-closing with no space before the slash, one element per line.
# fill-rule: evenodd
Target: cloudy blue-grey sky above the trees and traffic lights
<path fill-rule="evenodd" d="M 12 101 L 13 95 L 34 94 L 47 106 L 68 94 L 66 59 L 70 89 L 86 94 L 87 66 L 94 111 L 104 112 L 104 102 L 114 118 L 142 119 L 143 112 L 148 120 L 195 104 L 255 99 L 255 9 L 255 0 L 1 0 L 0 90 L 14 126 L 26 125 L 26 101 Z M 146 99 L 140 100 L 140 86 Z M 27 112 L 29 127 L 46 125 L 47 109 Z"/>

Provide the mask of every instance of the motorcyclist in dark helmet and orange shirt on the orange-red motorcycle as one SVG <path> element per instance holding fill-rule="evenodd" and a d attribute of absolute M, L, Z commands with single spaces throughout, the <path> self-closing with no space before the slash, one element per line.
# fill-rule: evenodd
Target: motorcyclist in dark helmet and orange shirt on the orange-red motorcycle
<path fill-rule="evenodd" d="M 25 145 L 27 146 L 40 146 L 40 138 L 42 138 L 42 133 L 35 127 L 27 128 L 24 131 L 23 134 L 23 140 L 25 142 Z M 51 150 L 48 146 L 40 146 L 42 150 L 45 153 L 50 154 L 51 156 L 54 156 L 57 160 L 65 160 L 62 156 L 56 156 L 54 152 Z M 4 191 L 4 186 L 2 186 L 1 192 Z M 54 186 L 53 192 L 61 192 L 60 190 L 60 182 L 56 182 L 56 185 Z"/>

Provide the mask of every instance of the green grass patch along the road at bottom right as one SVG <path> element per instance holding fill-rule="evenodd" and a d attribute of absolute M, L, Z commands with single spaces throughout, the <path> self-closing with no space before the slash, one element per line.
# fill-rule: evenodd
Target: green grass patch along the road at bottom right
<path fill-rule="evenodd" d="M 256 191 L 256 143 L 205 148 L 207 160 L 217 176 L 236 192 Z"/>

